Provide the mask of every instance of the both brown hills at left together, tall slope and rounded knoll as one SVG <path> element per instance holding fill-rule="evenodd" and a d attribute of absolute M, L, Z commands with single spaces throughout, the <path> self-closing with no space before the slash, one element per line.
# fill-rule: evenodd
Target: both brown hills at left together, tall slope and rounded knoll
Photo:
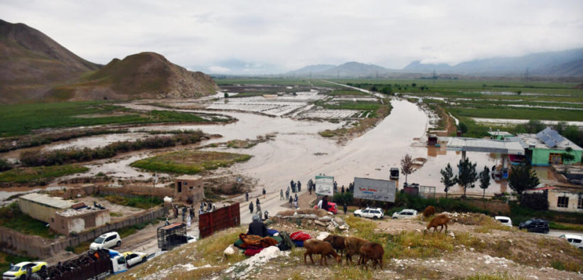
<path fill-rule="evenodd" d="M 41 31 L 0 20 L 0 103 L 196 97 L 217 85 L 157 53 L 138 53 L 107 65 L 80 58 Z"/>

